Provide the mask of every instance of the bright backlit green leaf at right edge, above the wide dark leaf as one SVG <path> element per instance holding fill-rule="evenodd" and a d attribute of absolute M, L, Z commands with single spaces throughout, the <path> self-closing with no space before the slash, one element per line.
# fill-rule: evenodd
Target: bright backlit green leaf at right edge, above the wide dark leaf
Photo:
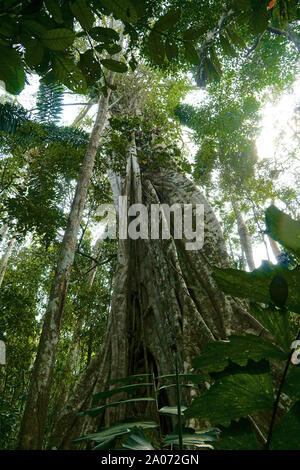
<path fill-rule="evenodd" d="M 265 214 L 267 233 L 270 237 L 300 256 L 300 222 L 273 205 L 268 207 Z"/>

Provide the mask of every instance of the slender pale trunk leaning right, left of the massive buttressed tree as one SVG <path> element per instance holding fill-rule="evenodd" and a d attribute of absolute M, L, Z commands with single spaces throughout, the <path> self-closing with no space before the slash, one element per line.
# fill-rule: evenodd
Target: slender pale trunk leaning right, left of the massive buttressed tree
<path fill-rule="evenodd" d="M 80 170 L 67 228 L 61 245 L 21 423 L 18 445 L 22 449 L 41 449 L 43 445 L 44 425 L 67 286 L 96 152 L 107 119 L 109 96 L 110 91 L 108 91 L 107 97 L 101 96 L 99 100 L 96 121 Z"/>

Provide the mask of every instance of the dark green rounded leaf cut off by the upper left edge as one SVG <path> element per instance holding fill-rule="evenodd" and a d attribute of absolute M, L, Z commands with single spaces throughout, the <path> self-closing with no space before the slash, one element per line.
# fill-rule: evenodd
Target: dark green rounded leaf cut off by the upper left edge
<path fill-rule="evenodd" d="M 0 46 L 0 80 L 5 89 L 13 95 L 19 94 L 25 86 L 25 72 L 18 52 L 12 47 Z"/>

